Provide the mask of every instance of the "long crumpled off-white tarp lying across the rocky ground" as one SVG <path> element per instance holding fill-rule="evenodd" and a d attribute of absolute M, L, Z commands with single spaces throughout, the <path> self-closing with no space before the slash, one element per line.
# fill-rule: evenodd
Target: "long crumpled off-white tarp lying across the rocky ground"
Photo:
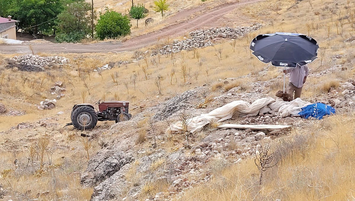
<path fill-rule="evenodd" d="M 302 101 L 300 98 L 296 98 L 291 102 L 276 101 L 275 99 L 260 98 L 249 104 L 245 101 L 233 101 L 222 107 L 216 108 L 207 114 L 201 114 L 188 120 L 187 131 L 195 133 L 201 131 L 204 126 L 211 122 L 221 122 L 230 119 L 232 116 L 257 116 L 260 113 L 277 113 L 282 117 L 289 115 L 297 115 L 301 108 L 306 107 L 312 103 Z M 170 124 L 165 133 L 170 135 L 171 133 L 182 132 L 181 121 L 175 124 Z"/>

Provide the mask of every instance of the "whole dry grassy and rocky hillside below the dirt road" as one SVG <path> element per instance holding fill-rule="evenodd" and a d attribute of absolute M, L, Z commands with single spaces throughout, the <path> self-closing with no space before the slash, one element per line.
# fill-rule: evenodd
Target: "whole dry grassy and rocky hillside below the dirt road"
<path fill-rule="evenodd" d="M 43 71 L 12 68 L 14 55 L 2 55 L 8 61 L 1 59 L 0 65 L 0 101 L 7 109 L 0 115 L 0 196 L 5 200 L 353 199 L 353 7 L 351 2 L 335 5 L 326 0 L 244 5 L 228 17 L 241 13 L 252 19 L 247 24 L 262 22 L 260 29 L 234 40 L 222 34 L 212 46 L 166 55 L 150 56 L 152 51 L 144 53 L 146 49 L 60 54 L 70 62 Z M 267 138 L 262 140 L 246 130 L 213 130 L 215 123 L 195 134 L 165 134 L 167 121 L 176 122 L 184 115 L 208 113 L 235 100 L 251 103 L 275 97 L 282 90 L 281 72 L 248 50 L 257 34 L 275 31 L 305 33 L 320 42 L 320 58 L 310 64 L 302 99 L 330 104 L 336 115 L 312 120 L 270 114 L 222 122 L 264 124 L 267 118 L 270 124 L 293 126 L 281 134 L 265 131 Z M 122 62 L 127 60 L 134 61 Z M 113 68 L 93 71 L 105 64 Z M 41 101 L 59 96 L 51 93 L 57 81 L 66 88 L 65 96 L 53 109 L 38 110 Z M 92 131 L 83 132 L 64 127 L 73 104 L 99 99 L 130 101 L 132 120 L 99 122 Z M 254 157 L 267 144 L 278 152 L 279 162 L 264 173 L 260 184 Z"/>

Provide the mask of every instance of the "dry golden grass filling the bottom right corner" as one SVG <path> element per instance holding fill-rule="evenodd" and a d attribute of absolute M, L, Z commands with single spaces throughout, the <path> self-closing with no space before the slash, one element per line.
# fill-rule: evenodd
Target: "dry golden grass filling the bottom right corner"
<path fill-rule="evenodd" d="M 351 200 L 355 185 L 354 116 L 332 116 L 315 126 L 311 136 L 294 132 L 280 143 L 287 150 L 278 167 L 258 185 L 258 170 L 252 159 L 222 169 L 208 185 L 197 186 L 181 200 Z M 327 125 L 328 131 L 320 128 Z M 347 125 L 347 126 L 344 126 Z M 313 127 L 313 128 L 312 128 Z M 297 137 L 298 136 L 298 137 Z M 285 143 L 286 142 L 286 143 Z M 321 166 L 321 168 L 320 168 Z M 213 189 L 213 190 L 211 190 Z"/>

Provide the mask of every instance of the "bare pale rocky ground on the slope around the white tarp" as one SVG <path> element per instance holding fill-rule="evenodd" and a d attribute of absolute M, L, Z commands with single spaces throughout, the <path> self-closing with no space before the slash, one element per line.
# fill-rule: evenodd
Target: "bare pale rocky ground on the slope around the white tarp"
<path fill-rule="evenodd" d="M 342 66 L 335 66 L 331 71 L 341 70 L 341 68 Z M 266 75 L 267 71 L 268 67 L 258 74 L 259 76 Z M 329 72 L 328 69 L 326 71 Z M 321 76 L 323 73 L 321 71 L 313 76 Z M 231 82 L 251 76 L 249 74 L 220 81 Z M 181 112 L 196 116 L 237 99 L 253 102 L 261 97 L 273 96 L 270 94 L 269 85 L 276 79 L 282 79 L 282 77 L 257 82 L 251 80 L 246 83 L 249 86 L 247 91 L 242 89 L 242 86 L 232 88 L 213 98 L 207 108 L 203 109 L 196 109 L 194 106 L 210 94 L 209 87 L 197 87 L 175 97 L 167 97 L 165 102 L 147 108 L 133 117 L 131 121 L 114 124 L 105 131 L 94 131 L 93 137 L 101 132 L 114 134 L 115 131 L 121 131 L 121 133 L 120 137 L 115 138 L 113 142 L 108 143 L 107 147 L 92 157 L 87 170 L 82 174 L 81 183 L 84 186 L 94 186 L 93 201 L 109 199 L 143 199 L 148 201 L 179 198 L 194 185 L 207 183 L 213 177 L 214 170 L 254 156 L 260 143 L 287 134 L 289 130 L 269 134 L 266 130 L 255 132 L 237 129 L 210 131 L 211 129 L 207 127 L 200 133 L 190 134 L 187 139 L 186 136 L 181 135 L 171 138 L 166 136 L 164 129 L 162 129 L 167 127 L 166 119 L 175 122 L 179 119 Z M 344 81 L 339 88 L 324 94 L 321 98 L 322 102 L 333 105 L 334 99 L 337 99 L 339 102 L 344 102 L 342 105 L 344 109 L 349 109 L 351 104 L 354 105 L 355 99 L 353 83 L 353 80 Z M 338 106 L 339 102 L 337 102 Z M 135 109 L 141 108 L 137 106 Z M 340 113 L 342 112 L 341 107 L 337 107 L 337 109 Z M 147 116 L 149 117 L 148 114 L 152 114 L 152 119 L 155 120 L 154 131 L 148 126 L 137 127 L 138 122 Z M 311 126 L 311 121 L 311 119 L 300 117 L 282 118 L 277 114 L 260 114 L 255 117 L 235 117 L 223 124 L 293 125 L 291 130 L 301 130 Z M 143 144 L 136 144 L 136 133 L 141 129 L 148 132 L 147 141 Z M 154 144 L 154 135 L 156 145 Z M 162 165 L 155 167 L 158 161 L 163 161 Z M 154 171 L 152 171 L 153 167 Z M 134 175 L 139 176 L 132 178 L 132 170 L 134 170 Z M 162 190 L 154 195 L 143 195 L 144 186 L 149 182 L 166 184 L 167 191 Z"/>

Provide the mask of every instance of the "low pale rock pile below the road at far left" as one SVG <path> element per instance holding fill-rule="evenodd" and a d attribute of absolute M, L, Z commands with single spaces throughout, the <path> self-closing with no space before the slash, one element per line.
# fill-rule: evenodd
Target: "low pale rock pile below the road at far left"
<path fill-rule="evenodd" d="M 62 66 L 69 63 L 69 59 L 65 57 L 41 57 L 37 54 L 24 54 L 21 56 L 15 56 L 12 58 L 16 64 L 35 66 L 44 68 L 45 66 L 59 65 Z M 44 70 L 44 69 L 43 69 Z"/>

